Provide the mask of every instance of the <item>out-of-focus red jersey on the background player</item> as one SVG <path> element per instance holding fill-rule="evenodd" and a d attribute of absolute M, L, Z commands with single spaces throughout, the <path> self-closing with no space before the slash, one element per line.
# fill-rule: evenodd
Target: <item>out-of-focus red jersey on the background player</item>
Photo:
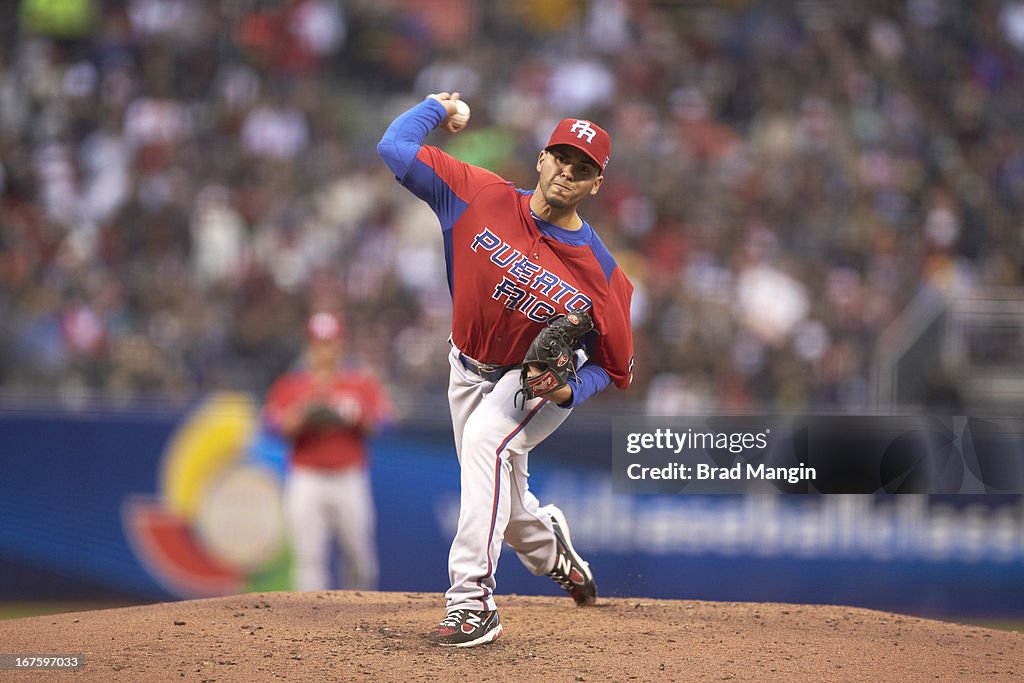
<path fill-rule="evenodd" d="M 340 415 L 355 416 L 355 422 L 331 429 L 300 430 L 292 441 L 292 464 L 322 470 L 365 467 L 366 434 L 391 414 L 383 387 L 364 373 L 339 371 L 326 385 L 315 384 L 307 372 L 291 373 L 270 387 L 264 416 L 269 426 L 280 431 L 282 420 L 291 410 L 316 402 L 330 405 Z"/>

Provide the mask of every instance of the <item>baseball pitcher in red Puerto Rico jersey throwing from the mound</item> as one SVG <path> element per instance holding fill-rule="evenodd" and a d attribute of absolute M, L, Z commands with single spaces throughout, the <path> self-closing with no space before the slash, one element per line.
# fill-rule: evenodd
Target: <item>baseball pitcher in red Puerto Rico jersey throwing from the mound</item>
<path fill-rule="evenodd" d="M 596 195 L 611 154 L 597 124 L 565 119 L 537 158 L 532 190 L 424 144 L 450 126 L 459 93 L 400 115 L 378 153 L 437 215 L 453 300 L 449 402 L 461 468 L 459 526 L 449 555 L 440 645 L 502 634 L 495 573 L 504 541 L 578 605 L 594 602 L 590 567 L 568 524 L 529 490 L 529 452 L 572 408 L 632 379 L 633 286 L 577 209 Z"/>

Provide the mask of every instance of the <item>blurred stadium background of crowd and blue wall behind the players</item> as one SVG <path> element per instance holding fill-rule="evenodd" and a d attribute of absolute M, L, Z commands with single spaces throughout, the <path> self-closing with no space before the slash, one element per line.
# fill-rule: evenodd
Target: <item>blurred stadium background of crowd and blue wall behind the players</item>
<path fill-rule="evenodd" d="M 534 459 L 603 591 L 1024 613 L 1019 497 L 629 497 L 606 471 L 612 415 L 1020 415 L 1024 4 L 14 4 L 0 598 L 286 588 L 258 403 L 321 306 L 402 415 L 375 443 L 382 588 L 443 590 L 440 240 L 374 146 L 459 89 L 471 128 L 433 141 L 523 186 L 561 117 L 613 132 L 586 216 L 637 286 L 636 384 Z"/>

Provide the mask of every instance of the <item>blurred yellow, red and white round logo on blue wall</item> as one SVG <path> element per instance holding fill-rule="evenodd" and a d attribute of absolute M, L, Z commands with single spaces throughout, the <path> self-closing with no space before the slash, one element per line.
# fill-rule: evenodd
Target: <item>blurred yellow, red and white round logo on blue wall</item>
<path fill-rule="evenodd" d="M 288 588 L 282 472 L 260 438 L 259 409 L 248 395 L 213 394 L 168 439 L 157 495 L 124 502 L 136 557 L 171 593 Z"/>

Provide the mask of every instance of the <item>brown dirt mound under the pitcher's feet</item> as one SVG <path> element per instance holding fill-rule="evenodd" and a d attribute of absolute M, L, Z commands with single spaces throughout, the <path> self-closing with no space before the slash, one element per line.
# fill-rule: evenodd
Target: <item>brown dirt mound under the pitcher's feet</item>
<path fill-rule="evenodd" d="M 503 596 L 505 636 L 423 634 L 439 595 L 262 593 L 0 622 L 0 651 L 84 681 L 1024 680 L 1024 634 L 849 607 Z M 0 672 L 0 680 L 27 680 Z"/>

